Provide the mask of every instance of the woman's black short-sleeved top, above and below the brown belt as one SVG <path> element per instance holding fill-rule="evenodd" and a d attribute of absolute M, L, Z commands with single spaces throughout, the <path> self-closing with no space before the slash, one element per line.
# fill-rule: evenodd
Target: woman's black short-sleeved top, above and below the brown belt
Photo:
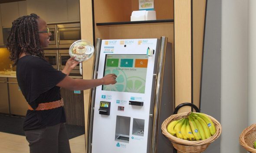
<path fill-rule="evenodd" d="M 33 55 L 21 57 L 17 63 L 16 76 L 21 92 L 33 109 L 36 109 L 39 103 L 61 99 L 60 87 L 56 84 L 63 80 L 66 74 L 54 69 L 46 60 Z M 63 107 L 43 111 L 28 110 L 23 129 L 44 128 L 62 122 L 66 122 Z"/>

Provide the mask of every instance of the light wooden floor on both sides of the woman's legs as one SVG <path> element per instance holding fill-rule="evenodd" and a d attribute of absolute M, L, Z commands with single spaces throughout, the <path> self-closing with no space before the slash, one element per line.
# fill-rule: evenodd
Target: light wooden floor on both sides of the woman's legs
<path fill-rule="evenodd" d="M 85 153 L 85 135 L 69 140 L 71 153 Z M 0 132 L 0 153 L 29 153 L 25 136 Z"/>

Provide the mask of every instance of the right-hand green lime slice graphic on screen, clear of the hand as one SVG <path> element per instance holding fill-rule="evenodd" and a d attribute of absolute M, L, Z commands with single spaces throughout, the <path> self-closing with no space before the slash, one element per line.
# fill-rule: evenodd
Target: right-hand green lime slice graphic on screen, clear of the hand
<path fill-rule="evenodd" d="M 145 93 L 145 84 L 141 77 L 128 77 L 125 92 Z"/>

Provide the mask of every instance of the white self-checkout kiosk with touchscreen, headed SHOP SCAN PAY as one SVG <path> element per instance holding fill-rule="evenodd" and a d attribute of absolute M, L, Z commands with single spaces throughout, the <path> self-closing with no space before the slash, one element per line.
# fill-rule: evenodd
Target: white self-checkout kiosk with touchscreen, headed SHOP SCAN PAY
<path fill-rule="evenodd" d="M 93 78 L 117 83 L 92 89 L 88 153 L 172 153 L 161 131 L 173 113 L 171 43 L 97 39 Z"/>

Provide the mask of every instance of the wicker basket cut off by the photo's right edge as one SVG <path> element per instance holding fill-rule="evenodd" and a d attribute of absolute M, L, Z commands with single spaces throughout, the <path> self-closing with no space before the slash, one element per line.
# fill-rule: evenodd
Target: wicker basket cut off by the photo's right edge
<path fill-rule="evenodd" d="M 240 134 L 239 141 L 241 146 L 251 153 L 256 153 L 253 148 L 253 142 L 256 141 L 256 124 L 252 124 Z"/>

